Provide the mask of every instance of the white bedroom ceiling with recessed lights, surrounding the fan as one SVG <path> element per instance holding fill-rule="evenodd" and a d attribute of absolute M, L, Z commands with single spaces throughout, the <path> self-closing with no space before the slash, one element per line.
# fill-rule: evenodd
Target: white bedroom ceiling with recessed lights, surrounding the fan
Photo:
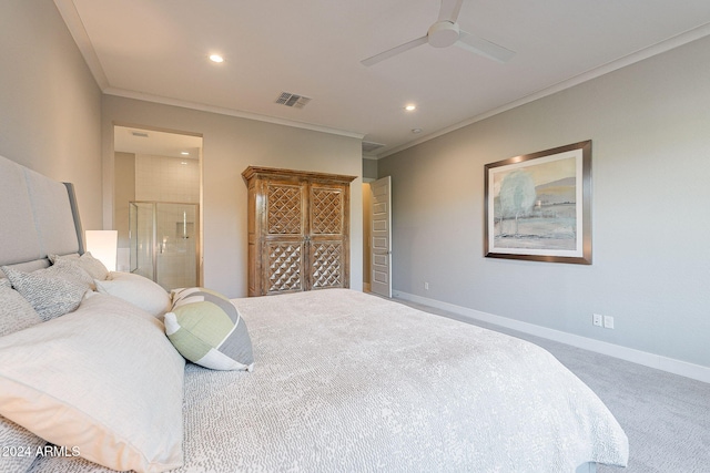
<path fill-rule="evenodd" d="M 104 93 L 362 136 L 381 156 L 710 34 L 708 0 L 464 0 L 460 28 L 509 62 L 424 44 L 367 68 L 426 34 L 439 0 L 54 2 Z"/>

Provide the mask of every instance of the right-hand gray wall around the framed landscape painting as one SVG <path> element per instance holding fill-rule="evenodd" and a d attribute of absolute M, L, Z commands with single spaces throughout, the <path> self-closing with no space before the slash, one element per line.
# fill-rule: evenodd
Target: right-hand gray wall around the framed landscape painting
<path fill-rule="evenodd" d="M 709 84 L 706 38 L 381 160 L 395 290 L 709 367 Z M 594 265 L 484 258 L 484 165 L 584 140 Z"/>

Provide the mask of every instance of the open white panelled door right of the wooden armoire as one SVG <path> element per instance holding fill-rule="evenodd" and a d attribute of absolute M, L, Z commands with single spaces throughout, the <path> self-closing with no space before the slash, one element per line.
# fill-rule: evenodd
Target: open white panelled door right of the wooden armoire
<path fill-rule="evenodd" d="M 369 185 L 372 192 L 371 215 L 371 290 L 392 297 L 392 179 L 389 176 Z"/>

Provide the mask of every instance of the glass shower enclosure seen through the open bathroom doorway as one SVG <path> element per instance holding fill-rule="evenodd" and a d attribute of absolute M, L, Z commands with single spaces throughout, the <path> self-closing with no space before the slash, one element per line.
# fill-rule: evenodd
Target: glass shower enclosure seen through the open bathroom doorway
<path fill-rule="evenodd" d="M 197 204 L 133 202 L 131 273 L 166 290 L 197 285 Z"/>

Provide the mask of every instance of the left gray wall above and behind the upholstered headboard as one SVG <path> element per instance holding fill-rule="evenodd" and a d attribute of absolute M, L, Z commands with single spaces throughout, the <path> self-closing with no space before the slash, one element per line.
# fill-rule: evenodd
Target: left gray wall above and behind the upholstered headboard
<path fill-rule="evenodd" d="M 74 183 L 101 229 L 101 91 L 51 0 L 0 1 L 0 154 Z"/>

